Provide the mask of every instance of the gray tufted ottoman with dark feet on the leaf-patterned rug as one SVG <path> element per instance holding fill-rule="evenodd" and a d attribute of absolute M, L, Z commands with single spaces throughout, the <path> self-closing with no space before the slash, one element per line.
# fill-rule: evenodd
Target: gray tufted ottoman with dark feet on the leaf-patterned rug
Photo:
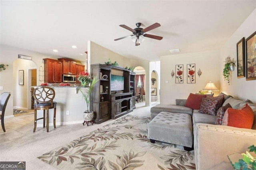
<path fill-rule="evenodd" d="M 148 124 L 148 138 L 184 146 L 191 150 L 193 145 L 192 121 L 186 113 L 161 112 Z"/>

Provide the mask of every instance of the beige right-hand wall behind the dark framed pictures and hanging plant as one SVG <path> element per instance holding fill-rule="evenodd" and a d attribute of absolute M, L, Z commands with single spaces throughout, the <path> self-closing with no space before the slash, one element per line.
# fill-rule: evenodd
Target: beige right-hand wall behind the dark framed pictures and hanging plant
<path fill-rule="evenodd" d="M 224 93 L 230 94 L 239 99 L 250 99 L 256 103 L 256 80 L 246 81 L 246 78 L 237 78 L 237 67 L 231 72 L 231 81 L 228 85 L 224 81 L 222 71 L 224 68 L 225 58 L 229 55 L 231 58 L 236 59 L 236 43 L 243 37 L 246 39 L 256 30 L 256 9 L 244 21 L 244 23 L 234 32 L 230 39 L 220 49 L 220 88 Z"/>

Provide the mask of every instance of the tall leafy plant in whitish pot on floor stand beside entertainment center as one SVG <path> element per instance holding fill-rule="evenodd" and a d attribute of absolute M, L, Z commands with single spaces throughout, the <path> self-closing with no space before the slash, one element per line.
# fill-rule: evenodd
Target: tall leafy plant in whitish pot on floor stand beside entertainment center
<path fill-rule="evenodd" d="M 91 85 L 90 87 L 86 88 L 85 91 L 82 91 L 81 89 L 79 89 L 79 91 L 82 93 L 82 98 L 84 99 L 84 101 L 86 102 L 87 105 L 87 110 L 84 111 L 84 123 L 86 123 L 88 125 L 88 122 L 92 122 L 93 119 L 93 111 L 89 110 L 89 104 L 90 104 L 90 100 L 92 97 L 92 89 L 93 86 L 98 82 L 99 80 L 94 77 L 92 79 L 92 81 L 90 82 Z"/>

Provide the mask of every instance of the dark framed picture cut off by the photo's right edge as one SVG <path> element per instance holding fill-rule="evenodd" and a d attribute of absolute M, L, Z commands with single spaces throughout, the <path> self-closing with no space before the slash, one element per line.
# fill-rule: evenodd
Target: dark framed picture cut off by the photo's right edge
<path fill-rule="evenodd" d="M 256 80 L 256 32 L 245 40 L 246 80 Z"/>

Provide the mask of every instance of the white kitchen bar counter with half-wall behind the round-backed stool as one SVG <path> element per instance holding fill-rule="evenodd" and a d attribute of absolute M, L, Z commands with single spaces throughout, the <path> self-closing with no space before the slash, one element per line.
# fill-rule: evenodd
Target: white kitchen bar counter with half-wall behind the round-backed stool
<path fill-rule="evenodd" d="M 38 86 L 33 86 L 34 88 Z M 76 86 L 49 86 L 55 91 L 54 101 L 56 107 L 56 125 L 70 125 L 83 123 L 83 113 L 87 110 L 86 102 L 82 98 L 80 88 L 85 91 L 88 87 Z M 49 109 L 49 126 L 53 126 L 54 109 Z M 37 111 L 37 117 L 43 117 L 43 111 Z M 37 127 L 43 127 L 43 120 L 37 122 Z M 57 127 L 58 128 L 58 127 Z"/>

